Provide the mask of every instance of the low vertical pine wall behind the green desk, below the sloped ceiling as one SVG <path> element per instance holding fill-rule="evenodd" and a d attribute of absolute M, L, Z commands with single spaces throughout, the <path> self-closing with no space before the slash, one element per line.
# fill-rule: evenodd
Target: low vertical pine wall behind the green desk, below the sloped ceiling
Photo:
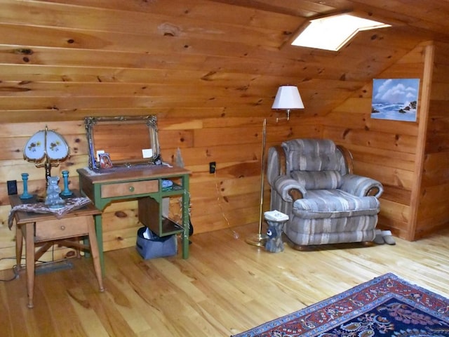
<path fill-rule="evenodd" d="M 267 123 L 267 147 L 286 138 L 320 137 L 318 119 L 290 119 L 290 123 L 270 119 Z M 262 155 L 261 118 L 208 118 L 181 121 L 161 118 L 159 140 L 164 161 L 175 163 L 180 154 L 187 169 L 192 170 L 190 192 L 192 223 L 196 233 L 234 227 L 245 223 L 257 223 L 260 205 L 260 167 Z M 42 192 L 45 187 L 43 168 L 22 159 L 22 147 L 29 136 L 45 123 L 4 124 L 1 147 L 1 175 L 6 180 L 18 180 L 22 192 L 20 173 L 29 173 L 29 191 Z M 69 171 L 70 188 L 78 187 L 76 169 L 88 164 L 87 143 L 83 121 L 50 121 L 48 128 L 65 136 L 72 155 L 60 166 L 52 168 L 52 175 L 61 176 Z M 215 174 L 208 172 L 210 161 L 217 163 Z M 1 184 L 0 256 L 15 256 L 14 232 L 8 230 L 8 205 L 6 183 Z M 269 187 L 265 184 L 264 207 L 269 205 Z M 173 200 L 172 200 L 173 201 Z M 177 218 L 176 200 L 170 206 L 170 216 Z M 107 206 L 103 213 L 103 240 L 105 251 L 135 245 L 140 223 L 137 217 L 137 201 L 126 201 Z M 15 227 L 14 227 L 15 228 Z M 13 228 L 13 229 L 14 229 Z M 257 230 L 257 226 L 255 226 Z M 60 249 L 55 257 L 67 250 Z M 53 258 L 51 253 L 43 260 Z M 0 267 L 8 267 L 13 260 L 0 261 Z"/>

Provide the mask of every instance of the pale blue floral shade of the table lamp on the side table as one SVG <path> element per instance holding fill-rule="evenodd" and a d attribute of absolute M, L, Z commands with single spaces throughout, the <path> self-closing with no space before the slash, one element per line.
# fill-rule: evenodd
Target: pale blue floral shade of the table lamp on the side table
<path fill-rule="evenodd" d="M 53 130 L 48 130 L 47 127 L 45 130 L 34 133 L 23 149 L 23 158 L 36 164 L 42 161 L 58 162 L 67 157 L 69 157 L 69 145 L 64 137 Z"/>

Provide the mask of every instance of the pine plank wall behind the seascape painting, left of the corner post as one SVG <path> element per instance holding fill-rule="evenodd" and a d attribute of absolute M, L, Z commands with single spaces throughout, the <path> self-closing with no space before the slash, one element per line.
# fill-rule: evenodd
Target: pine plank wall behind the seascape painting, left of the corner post
<path fill-rule="evenodd" d="M 425 48 L 415 48 L 377 78 L 417 78 L 422 91 Z M 372 97 L 373 83 L 370 82 L 328 115 L 324 136 L 351 150 L 356 173 L 373 177 L 384 185 L 378 226 L 410 239 L 412 194 L 419 188 L 415 181 L 415 163 L 420 161 L 417 153 L 419 126 L 422 114 L 427 112 L 422 110 L 420 96 L 416 123 L 371 119 Z"/>

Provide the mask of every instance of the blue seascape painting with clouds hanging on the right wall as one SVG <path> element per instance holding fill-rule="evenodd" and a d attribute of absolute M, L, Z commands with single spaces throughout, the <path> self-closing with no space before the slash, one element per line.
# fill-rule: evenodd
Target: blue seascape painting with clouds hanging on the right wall
<path fill-rule="evenodd" d="M 373 79 L 371 118 L 416 121 L 420 79 Z"/>

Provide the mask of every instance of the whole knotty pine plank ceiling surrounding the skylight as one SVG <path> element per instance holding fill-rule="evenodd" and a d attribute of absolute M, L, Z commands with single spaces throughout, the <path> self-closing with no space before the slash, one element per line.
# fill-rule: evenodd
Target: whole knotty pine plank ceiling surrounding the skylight
<path fill-rule="evenodd" d="M 393 27 L 337 53 L 290 46 L 342 11 Z M 282 84 L 326 114 L 418 44 L 448 42 L 448 19 L 446 0 L 1 0 L 0 120 L 261 116 Z"/>

